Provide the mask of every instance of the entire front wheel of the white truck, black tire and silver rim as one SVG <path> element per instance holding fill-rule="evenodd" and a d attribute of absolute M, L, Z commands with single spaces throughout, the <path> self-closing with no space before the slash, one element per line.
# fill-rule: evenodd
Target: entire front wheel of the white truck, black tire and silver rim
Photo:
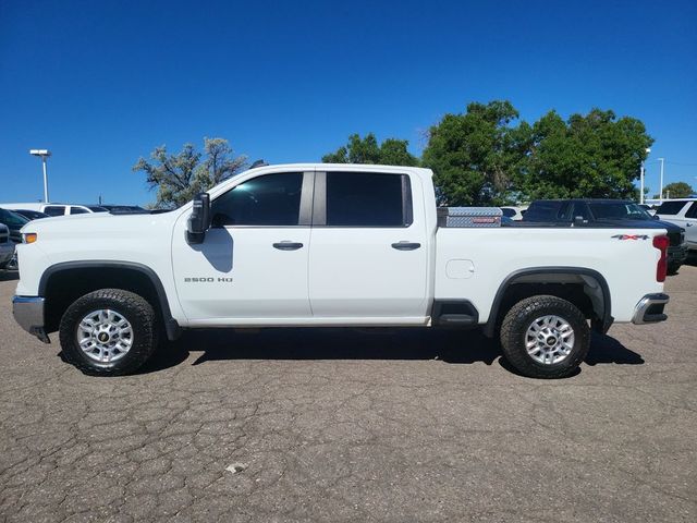
<path fill-rule="evenodd" d="M 157 346 L 157 315 L 133 292 L 101 289 L 68 307 L 61 318 L 60 340 L 65 360 L 85 374 L 129 374 Z"/>

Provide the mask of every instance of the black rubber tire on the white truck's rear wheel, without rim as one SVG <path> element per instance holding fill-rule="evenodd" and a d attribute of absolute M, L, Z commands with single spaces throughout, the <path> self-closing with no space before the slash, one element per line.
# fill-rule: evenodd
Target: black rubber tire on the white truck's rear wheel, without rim
<path fill-rule="evenodd" d="M 574 329 L 574 344 L 568 355 L 559 363 L 537 362 L 527 353 L 525 336 L 535 319 L 554 315 Z M 564 378 L 576 372 L 590 348 L 590 328 L 583 313 L 572 303 L 557 296 L 531 296 L 516 303 L 503 318 L 501 348 L 505 360 L 522 375 L 530 378 Z"/>

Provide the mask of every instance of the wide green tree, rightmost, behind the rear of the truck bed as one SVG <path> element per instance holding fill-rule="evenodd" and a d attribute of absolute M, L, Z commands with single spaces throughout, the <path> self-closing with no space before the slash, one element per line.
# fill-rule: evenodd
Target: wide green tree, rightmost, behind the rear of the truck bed
<path fill-rule="evenodd" d="M 635 118 L 592 109 L 564 121 L 550 111 L 531 127 L 517 188 L 527 199 L 633 196 L 652 143 Z"/>

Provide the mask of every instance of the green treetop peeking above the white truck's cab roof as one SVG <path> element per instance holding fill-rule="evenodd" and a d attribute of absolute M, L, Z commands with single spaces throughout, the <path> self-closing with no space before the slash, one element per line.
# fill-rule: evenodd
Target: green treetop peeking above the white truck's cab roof
<path fill-rule="evenodd" d="M 348 136 L 348 143 L 322 156 L 325 163 L 377 163 L 382 166 L 417 166 L 418 158 L 408 151 L 406 139 L 388 138 L 378 144 L 375 134 L 365 138 L 358 134 Z"/>

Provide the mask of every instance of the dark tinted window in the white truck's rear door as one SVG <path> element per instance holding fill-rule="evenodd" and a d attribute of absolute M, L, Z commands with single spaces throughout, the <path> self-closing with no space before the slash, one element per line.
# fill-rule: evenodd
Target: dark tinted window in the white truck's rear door
<path fill-rule="evenodd" d="M 327 226 L 408 227 L 412 216 L 407 175 L 327 173 Z"/>

